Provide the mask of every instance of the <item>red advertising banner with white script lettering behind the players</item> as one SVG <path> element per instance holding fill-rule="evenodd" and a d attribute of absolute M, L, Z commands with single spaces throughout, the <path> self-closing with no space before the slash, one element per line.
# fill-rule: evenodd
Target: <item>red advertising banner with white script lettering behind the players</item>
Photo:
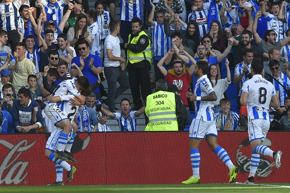
<path fill-rule="evenodd" d="M 237 182 L 247 180 L 251 149 L 247 132 L 218 132 L 218 143 L 240 168 Z M 0 135 L 0 185 L 46 185 L 55 182 L 55 164 L 44 156 L 49 134 Z M 280 169 L 260 157 L 256 183 L 290 182 L 289 132 L 269 132 L 263 145 L 283 152 Z M 203 140 L 201 183 L 228 183 L 229 169 Z M 171 184 L 192 175 L 188 132 L 78 133 L 72 147 L 78 163 L 68 185 Z M 66 181 L 66 172 L 63 170 Z"/>

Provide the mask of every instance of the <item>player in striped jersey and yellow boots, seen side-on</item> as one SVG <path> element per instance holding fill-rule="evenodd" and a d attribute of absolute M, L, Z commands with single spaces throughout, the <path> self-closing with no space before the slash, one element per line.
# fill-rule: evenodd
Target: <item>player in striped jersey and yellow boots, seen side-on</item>
<path fill-rule="evenodd" d="M 211 150 L 216 153 L 218 157 L 230 169 L 229 183 L 235 182 L 237 172 L 239 171 L 239 169 L 234 166 L 234 164 L 230 160 L 230 157 L 228 156 L 226 150 L 219 146 L 217 142 L 218 131 L 215 126 L 213 108 L 214 105 L 212 102 L 217 100 L 217 96 L 211 86 L 211 82 L 207 78 L 208 71 L 209 68 L 207 62 L 197 62 L 195 66 L 194 76 L 197 77 L 198 80 L 195 85 L 194 94 L 186 93 L 190 101 L 194 102 L 195 104 L 196 118 L 192 120 L 189 128 L 189 149 L 193 176 L 191 176 L 188 180 L 183 181 L 183 184 L 200 183 L 200 154 L 198 151 L 198 146 L 204 137 Z"/>

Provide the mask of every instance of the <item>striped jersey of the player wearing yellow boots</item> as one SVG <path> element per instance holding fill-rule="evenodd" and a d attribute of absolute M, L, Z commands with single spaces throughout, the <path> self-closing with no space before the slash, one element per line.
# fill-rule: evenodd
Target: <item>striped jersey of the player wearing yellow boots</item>
<path fill-rule="evenodd" d="M 208 80 L 207 75 L 201 76 L 194 89 L 195 96 L 208 96 L 214 89 L 211 82 Z M 214 121 L 214 103 L 212 101 L 197 100 L 194 102 L 196 119 L 203 119 L 203 121 Z"/>

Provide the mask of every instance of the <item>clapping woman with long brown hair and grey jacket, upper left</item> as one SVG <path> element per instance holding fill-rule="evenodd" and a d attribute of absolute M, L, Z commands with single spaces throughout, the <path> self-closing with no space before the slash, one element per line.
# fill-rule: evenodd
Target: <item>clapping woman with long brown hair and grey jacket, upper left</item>
<path fill-rule="evenodd" d="M 85 14 L 79 14 L 75 27 L 69 28 L 67 32 L 67 41 L 76 50 L 76 55 L 79 55 L 79 40 L 81 39 L 85 39 L 89 43 L 89 46 L 91 46 L 92 34 L 89 27 L 87 27 L 87 17 Z"/>

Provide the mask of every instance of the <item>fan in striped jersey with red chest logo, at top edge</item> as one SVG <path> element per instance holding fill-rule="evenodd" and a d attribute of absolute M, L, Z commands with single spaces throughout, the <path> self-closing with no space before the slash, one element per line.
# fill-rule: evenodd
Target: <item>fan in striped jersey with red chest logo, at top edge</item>
<path fill-rule="evenodd" d="M 188 14 L 187 21 L 195 20 L 198 24 L 198 32 L 201 37 L 208 33 L 208 13 L 205 12 L 204 0 L 195 0 L 192 12 Z"/>

